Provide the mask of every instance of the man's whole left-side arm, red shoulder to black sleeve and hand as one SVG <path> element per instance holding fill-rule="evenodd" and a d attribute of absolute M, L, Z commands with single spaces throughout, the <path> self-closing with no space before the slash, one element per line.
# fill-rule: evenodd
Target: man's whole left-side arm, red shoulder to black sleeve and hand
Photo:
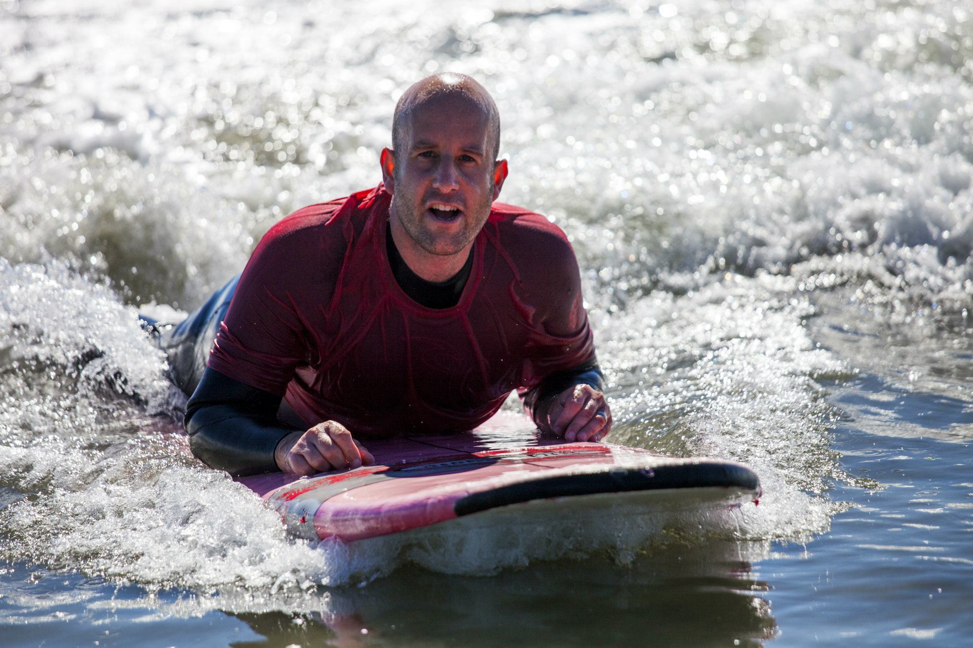
<path fill-rule="evenodd" d="M 298 305 L 308 295 L 327 300 L 319 271 L 294 269 L 317 268 L 327 242 L 317 224 L 335 206 L 311 205 L 270 228 L 240 275 L 185 419 L 191 450 L 213 468 L 234 476 L 276 470 L 313 475 L 373 460 L 337 421 L 303 430 L 276 416 L 305 361 Z"/>

